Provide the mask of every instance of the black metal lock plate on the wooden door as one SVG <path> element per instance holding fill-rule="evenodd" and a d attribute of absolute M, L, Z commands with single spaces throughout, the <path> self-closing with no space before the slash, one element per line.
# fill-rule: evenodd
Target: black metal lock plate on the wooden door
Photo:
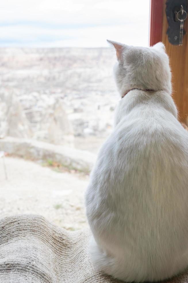
<path fill-rule="evenodd" d="M 183 7 L 183 12 L 181 9 Z M 168 21 L 168 41 L 173 45 L 181 45 L 185 29 L 182 28 L 182 21 L 187 17 L 187 0 L 167 0 L 166 18 Z M 182 32 L 181 32 L 182 28 Z M 182 37 L 182 38 L 181 38 Z"/>

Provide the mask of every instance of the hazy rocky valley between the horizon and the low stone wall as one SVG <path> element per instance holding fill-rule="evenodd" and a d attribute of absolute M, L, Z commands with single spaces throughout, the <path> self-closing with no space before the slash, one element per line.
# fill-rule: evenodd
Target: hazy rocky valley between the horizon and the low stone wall
<path fill-rule="evenodd" d="M 119 99 L 112 58 L 108 48 L 1 48 L 0 137 L 97 152 Z"/>

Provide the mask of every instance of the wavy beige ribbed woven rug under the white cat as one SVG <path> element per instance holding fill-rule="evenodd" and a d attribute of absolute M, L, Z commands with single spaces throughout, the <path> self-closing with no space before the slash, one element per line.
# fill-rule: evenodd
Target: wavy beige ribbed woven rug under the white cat
<path fill-rule="evenodd" d="M 120 283 L 87 253 L 89 231 L 68 232 L 36 215 L 0 220 L 0 283 Z M 168 282 L 188 282 L 188 271 Z"/>

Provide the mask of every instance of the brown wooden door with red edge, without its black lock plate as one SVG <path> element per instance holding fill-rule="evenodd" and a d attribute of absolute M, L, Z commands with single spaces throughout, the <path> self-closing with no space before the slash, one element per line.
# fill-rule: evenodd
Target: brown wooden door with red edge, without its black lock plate
<path fill-rule="evenodd" d="M 166 0 L 150 0 L 150 46 L 162 41 L 170 59 L 172 71 L 172 98 L 179 111 L 179 121 L 188 125 L 188 18 L 184 23 L 186 31 L 183 45 L 172 45 L 166 31 Z"/>

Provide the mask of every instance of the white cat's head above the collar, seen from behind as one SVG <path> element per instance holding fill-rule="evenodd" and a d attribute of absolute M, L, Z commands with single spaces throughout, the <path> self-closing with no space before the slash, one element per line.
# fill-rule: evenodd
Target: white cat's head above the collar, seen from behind
<path fill-rule="evenodd" d="M 116 49 L 114 73 L 121 96 L 132 88 L 165 90 L 171 94 L 169 59 L 162 42 L 152 47 L 135 47 L 107 41 Z"/>

